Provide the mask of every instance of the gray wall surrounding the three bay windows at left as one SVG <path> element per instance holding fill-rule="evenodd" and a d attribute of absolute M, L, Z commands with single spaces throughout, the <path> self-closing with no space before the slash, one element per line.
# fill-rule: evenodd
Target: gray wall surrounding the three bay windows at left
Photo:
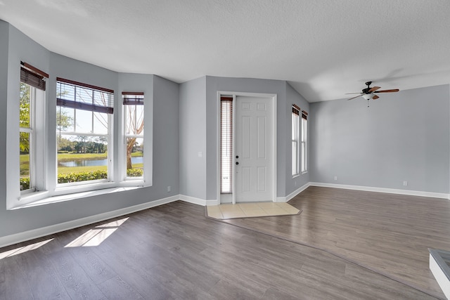
<path fill-rule="evenodd" d="M 6 210 L 5 190 L 8 170 L 4 166 L 6 149 L 11 148 L 11 144 L 5 141 L 6 128 L 11 124 L 6 122 L 5 108 L 7 107 L 7 98 L 9 103 L 14 103 L 13 99 L 18 99 L 20 60 L 49 72 L 50 78 L 46 91 L 49 114 L 56 112 L 56 77 L 114 89 L 116 105 L 120 101 L 118 97 L 119 86 L 124 87 L 126 81 L 121 85 L 119 74 L 116 72 L 46 51 L 13 26 L 2 21 L 0 21 L 0 41 L 0 100 L 2 106 L 0 125 L 3 125 L 0 126 L 0 167 L 3 166 L 0 173 L 0 220 L 3 224 L 3 226 L 0 226 L 0 237 L 179 194 L 179 161 L 177 158 L 179 157 L 179 124 L 177 123 L 179 117 L 179 84 L 160 77 L 153 77 L 153 75 L 136 74 L 134 76 L 136 80 L 138 77 L 140 78 L 139 81 L 142 86 L 134 86 L 134 89 L 150 89 L 149 85 L 153 84 L 153 94 L 146 94 L 146 98 L 153 98 L 154 123 L 158 123 L 154 124 L 153 128 L 153 186 L 26 209 Z M 5 51 L 5 49 L 8 50 Z M 11 70 L 5 67 L 6 64 Z M 151 78 L 153 78 L 153 82 L 149 81 Z M 11 94 L 8 91 L 11 91 Z M 49 145 L 54 145 L 55 131 L 53 128 L 55 128 L 55 120 L 49 119 L 51 120 L 48 132 L 49 137 L 51 137 Z M 116 143 L 115 148 L 117 148 Z M 55 159 L 54 154 L 49 159 Z M 171 193 L 167 193 L 167 185 L 172 185 Z"/>

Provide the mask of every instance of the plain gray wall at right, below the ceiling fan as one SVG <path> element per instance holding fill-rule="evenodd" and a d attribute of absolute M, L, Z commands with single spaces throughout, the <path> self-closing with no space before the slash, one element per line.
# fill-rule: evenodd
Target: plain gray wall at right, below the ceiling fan
<path fill-rule="evenodd" d="M 449 193 L 449 100 L 443 85 L 311 103 L 311 181 Z"/>

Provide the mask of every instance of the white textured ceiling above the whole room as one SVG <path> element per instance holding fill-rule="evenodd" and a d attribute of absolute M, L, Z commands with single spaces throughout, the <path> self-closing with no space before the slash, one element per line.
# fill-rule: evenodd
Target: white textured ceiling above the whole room
<path fill-rule="evenodd" d="M 282 79 L 309 102 L 450 82 L 449 0 L 0 0 L 0 19 L 117 72 Z"/>

